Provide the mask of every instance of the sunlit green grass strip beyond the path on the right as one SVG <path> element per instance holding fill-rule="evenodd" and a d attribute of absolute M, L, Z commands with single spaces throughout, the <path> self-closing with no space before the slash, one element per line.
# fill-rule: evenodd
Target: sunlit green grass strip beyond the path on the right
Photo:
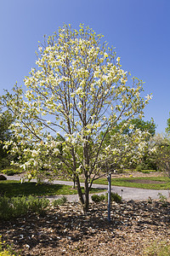
<path fill-rule="evenodd" d="M 151 180 L 158 181 L 160 183 L 132 183 L 133 180 Z M 99 178 L 94 181 L 98 184 L 108 184 L 107 178 Z M 169 177 L 120 177 L 112 178 L 111 185 L 139 188 L 139 189 L 170 189 L 170 178 Z"/>

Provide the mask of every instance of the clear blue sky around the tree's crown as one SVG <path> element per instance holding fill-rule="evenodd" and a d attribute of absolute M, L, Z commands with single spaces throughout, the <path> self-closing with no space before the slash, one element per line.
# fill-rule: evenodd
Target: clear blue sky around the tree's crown
<path fill-rule="evenodd" d="M 0 0 L 0 95 L 36 67 L 38 41 L 59 26 L 84 23 L 116 47 L 122 68 L 153 99 L 145 119 L 165 130 L 170 112 L 169 0 Z"/>

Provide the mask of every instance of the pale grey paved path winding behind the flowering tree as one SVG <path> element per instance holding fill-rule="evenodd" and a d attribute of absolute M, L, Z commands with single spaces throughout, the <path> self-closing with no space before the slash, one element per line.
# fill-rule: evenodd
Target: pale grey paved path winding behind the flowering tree
<path fill-rule="evenodd" d="M 8 180 L 20 180 L 20 176 L 14 175 L 12 177 L 6 176 Z M 35 182 L 36 180 L 32 180 Z M 64 185 L 71 185 L 72 182 L 68 181 L 61 181 L 61 180 L 54 180 L 54 184 L 64 184 Z M 81 183 L 83 186 L 83 183 Z M 93 188 L 98 189 L 107 189 L 107 185 L 102 184 L 93 184 Z M 127 187 L 117 187 L 111 186 L 111 191 L 122 195 L 122 199 L 126 201 L 130 200 L 148 200 L 149 196 L 152 199 L 159 199 L 158 193 L 165 195 L 168 199 L 170 197 L 169 190 L 156 190 L 156 189 L 136 189 L 136 188 L 127 188 Z M 103 192 L 105 193 L 105 192 Z M 100 194 L 100 193 L 99 193 Z M 50 200 L 57 199 L 62 195 L 55 195 L 55 196 L 48 196 Z M 66 195 L 68 201 L 78 201 L 78 195 Z"/>

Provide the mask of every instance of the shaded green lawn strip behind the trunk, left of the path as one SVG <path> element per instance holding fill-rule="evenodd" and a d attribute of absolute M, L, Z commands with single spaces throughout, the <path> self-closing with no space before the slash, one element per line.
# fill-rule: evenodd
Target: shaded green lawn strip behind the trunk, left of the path
<path fill-rule="evenodd" d="M 84 189 L 82 189 L 82 192 Z M 98 193 L 103 189 L 91 189 L 91 193 Z M 37 184 L 37 183 L 20 183 L 18 181 L 6 180 L 0 181 L 0 193 L 8 197 L 18 195 L 75 195 L 77 189 L 71 186 L 61 184 Z"/>

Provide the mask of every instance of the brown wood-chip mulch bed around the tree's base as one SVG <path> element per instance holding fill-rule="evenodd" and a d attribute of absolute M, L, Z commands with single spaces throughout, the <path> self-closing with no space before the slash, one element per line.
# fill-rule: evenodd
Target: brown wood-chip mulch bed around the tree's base
<path fill-rule="evenodd" d="M 170 242 L 170 203 L 113 203 L 111 223 L 106 203 L 91 204 L 82 214 L 78 203 L 0 222 L 0 235 L 20 255 L 144 255 L 153 241 Z"/>

